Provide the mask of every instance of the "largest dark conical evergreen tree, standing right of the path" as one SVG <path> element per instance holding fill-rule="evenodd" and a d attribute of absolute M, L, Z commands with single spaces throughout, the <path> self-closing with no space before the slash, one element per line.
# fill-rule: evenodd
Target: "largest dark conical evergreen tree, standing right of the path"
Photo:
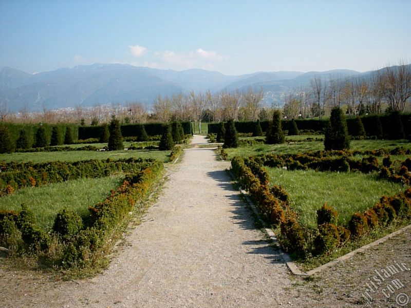
<path fill-rule="evenodd" d="M 340 107 L 334 107 L 331 110 L 331 117 L 325 130 L 324 147 L 327 151 L 350 147 L 347 121 Z"/>

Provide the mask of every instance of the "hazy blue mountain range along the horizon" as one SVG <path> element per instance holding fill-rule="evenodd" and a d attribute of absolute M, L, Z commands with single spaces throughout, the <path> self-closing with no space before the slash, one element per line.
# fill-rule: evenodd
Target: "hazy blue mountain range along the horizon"
<path fill-rule="evenodd" d="M 139 101 L 151 106 L 158 95 L 210 90 L 212 93 L 264 88 L 279 95 L 309 85 L 315 75 L 350 76 L 365 74 L 352 70 L 326 72 L 256 72 L 239 76 L 215 71 L 184 71 L 135 67 L 126 64 L 93 64 L 30 74 L 0 67 L 0 102 L 12 112 L 25 108 L 40 111 L 76 106 Z M 267 95 L 266 95 L 267 96 Z"/>

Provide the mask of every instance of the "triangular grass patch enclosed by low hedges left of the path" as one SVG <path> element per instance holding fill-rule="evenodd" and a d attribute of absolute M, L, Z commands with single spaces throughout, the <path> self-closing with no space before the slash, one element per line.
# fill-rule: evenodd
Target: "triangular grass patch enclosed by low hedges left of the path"
<path fill-rule="evenodd" d="M 18 189 L 13 195 L 1 198 L 0 210 L 20 211 L 26 204 L 34 213 L 36 222 L 46 230 L 52 228 L 55 215 L 63 207 L 70 208 L 82 217 L 88 215 L 88 206 L 103 201 L 110 189 L 121 184 L 124 175 L 101 179 L 79 179 L 40 187 Z"/>

